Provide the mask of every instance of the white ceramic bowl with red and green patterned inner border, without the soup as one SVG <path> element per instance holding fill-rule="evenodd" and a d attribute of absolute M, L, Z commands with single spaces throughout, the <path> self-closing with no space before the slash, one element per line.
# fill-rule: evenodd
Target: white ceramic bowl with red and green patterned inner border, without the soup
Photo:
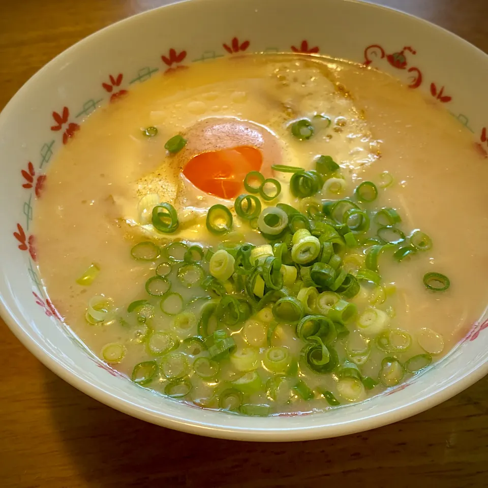
<path fill-rule="evenodd" d="M 391 72 L 412 89 L 437 98 L 473 133 L 479 150 L 488 150 L 488 56 L 400 12 L 343 0 L 199 0 L 103 29 L 53 59 L 0 115 L 2 316 L 60 377 L 111 407 L 173 429 L 289 441 L 339 436 L 400 420 L 488 373 L 485 315 L 430 371 L 367 402 L 323 414 L 237 416 L 192 408 L 133 384 L 89 353 L 57 319 L 39 282 L 32 217 L 52 155 L 70 136 L 76 137 L 83 118 L 120 90 L 179 66 L 243 51 L 290 50 L 320 52 Z"/>

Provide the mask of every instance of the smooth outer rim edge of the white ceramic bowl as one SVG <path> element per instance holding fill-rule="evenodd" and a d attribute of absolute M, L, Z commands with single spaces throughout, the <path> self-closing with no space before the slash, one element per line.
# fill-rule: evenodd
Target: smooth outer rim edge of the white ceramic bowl
<path fill-rule="evenodd" d="M 80 41 L 76 42 L 72 46 L 68 47 L 67 49 L 56 55 L 39 71 L 37 71 L 31 78 L 29 78 L 19 88 L 19 90 L 17 90 L 12 99 L 0 112 L 0 124 L 4 119 L 7 119 L 9 117 L 11 111 L 15 110 L 15 106 L 21 99 L 23 93 L 31 88 L 31 86 L 35 85 L 39 77 L 41 77 L 46 71 L 49 71 L 55 63 L 58 63 L 65 57 L 70 56 L 80 45 L 85 45 L 89 42 L 96 40 L 99 36 L 103 36 L 108 29 L 117 28 L 121 25 L 128 25 L 131 22 L 137 22 L 144 16 L 153 15 L 154 11 L 160 11 L 161 9 L 180 8 L 180 5 L 192 3 L 212 3 L 214 1 L 215 0 L 177 0 L 176 2 L 172 2 L 161 7 L 149 9 L 144 12 L 140 12 L 138 14 L 127 17 L 125 19 L 121 19 L 81 39 Z M 245 2 L 247 0 L 240 1 Z M 337 3 L 344 2 L 367 6 L 372 10 L 378 9 L 387 11 L 392 15 L 407 18 L 411 22 L 421 23 L 425 26 L 428 26 L 430 29 L 437 31 L 440 35 L 450 37 L 457 43 L 463 44 L 466 48 L 469 48 L 476 52 L 478 56 L 485 60 L 485 62 L 488 62 L 488 55 L 484 53 L 481 49 L 477 48 L 476 46 L 457 36 L 456 34 L 447 31 L 447 29 L 433 24 L 432 22 L 429 22 L 427 20 L 421 19 L 415 15 L 408 14 L 395 8 L 373 4 L 370 3 L 368 0 L 333 1 Z M 0 295 L 0 315 L 10 328 L 10 330 L 13 332 L 15 337 L 17 337 L 17 339 L 23 344 L 23 346 L 25 346 L 25 348 L 29 352 L 31 352 L 37 359 L 39 359 L 42 364 L 44 364 L 48 369 L 50 369 L 57 376 L 69 383 L 71 386 L 74 386 L 75 388 L 91 396 L 95 400 L 120 412 L 126 413 L 141 420 L 148 421 L 150 423 L 164 426 L 166 428 L 222 439 L 261 442 L 302 441 L 322 439 L 326 437 L 339 437 L 343 435 L 371 430 L 392 422 L 403 420 L 412 415 L 423 412 L 424 410 L 435 407 L 436 405 L 439 405 L 440 403 L 448 400 L 457 393 L 468 388 L 473 383 L 488 374 L 488 361 L 485 361 L 472 367 L 471 370 L 469 370 L 463 376 L 456 378 L 448 386 L 439 391 L 436 391 L 430 396 L 426 396 L 414 402 L 407 402 L 398 408 L 393 408 L 384 413 L 379 413 L 352 421 L 346 420 L 345 422 L 335 425 L 307 425 L 288 428 L 285 430 L 277 428 L 261 429 L 253 428 L 252 426 L 249 428 L 238 428 L 236 426 L 225 425 L 225 422 L 222 422 L 221 425 L 209 426 L 208 424 L 200 421 L 189 421 L 185 420 L 184 418 L 176 418 L 168 414 L 153 412 L 147 407 L 143 407 L 140 404 L 138 405 L 134 402 L 121 399 L 116 394 L 105 391 L 104 389 L 91 383 L 88 379 L 70 370 L 66 365 L 59 363 L 56 357 L 43 347 L 42 343 L 40 343 L 35 337 L 29 334 L 28 331 L 26 331 L 20 325 L 20 320 L 17 321 L 15 313 L 9 308 L 7 302 L 2 295 Z M 222 418 L 225 419 L 226 417 L 222 415 Z"/>

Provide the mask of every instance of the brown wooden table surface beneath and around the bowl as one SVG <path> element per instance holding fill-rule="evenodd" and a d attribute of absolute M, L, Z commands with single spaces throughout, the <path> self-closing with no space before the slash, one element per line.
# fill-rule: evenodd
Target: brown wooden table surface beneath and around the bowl
<path fill-rule="evenodd" d="M 164 3 L 0 0 L 0 107 L 76 41 Z M 487 0 L 381 3 L 442 25 L 488 52 Z M 428 412 L 375 431 L 289 444 L 239 443 L 181 434 L 112 410 L 47 370 L 1 320 L 0 334 L 3 488 L 488 486 L 488 377 Z"/>

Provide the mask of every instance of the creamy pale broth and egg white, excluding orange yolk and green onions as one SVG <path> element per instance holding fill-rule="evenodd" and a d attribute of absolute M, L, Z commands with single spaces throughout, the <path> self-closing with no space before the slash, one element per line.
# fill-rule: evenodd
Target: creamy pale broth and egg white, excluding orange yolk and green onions
<path fill-rule="evenodd" d="M 313 137 L 304 141 L 294 138 L 290 124 L 315 114 L 328 116 L 330 126 L 324 119 L 311 118 L 316 127 Z M 209 118 L 215 119 L 215 124 L 229 121 L 240 127 L 240 132 L 221 132 L 212 140 L 211 130 L 201 130 L 208 125 L 204 119 Z M 142 134 L 141 129 L 149 126 L 158 129 L 156 136 Z M 253 130 L 261 137 L 253 136 Z M 177 133 L 183 134 L 188 144 L 177 155 L 168 155 L 164 144 Z M 400 328 L 412 337 L 410 348 L 396 354 L 400 363 L 425 352 L 417 342 L 421 329 L 442 335 L 444 347 L 433 355 L 436 360 L 479 317 L 487 288 L 483 270 L 488 264 L 484 250 L 488 218 L 483 209 L 488 197 L 483 181 L 488 169 L 475 151 L 471 135 L 443 107 L 374 70 L 295 55 L 222 59 L 192 65 L 171 76 L 156 76 L 101 108 L 83 123 L 49 168 L 35 223 L 43 282 L 65 321 L 97 355 L 108 343 L 124 345 L 124 358 L 111 363 L 112 367 L 130 377 L 135 364 L 157 355 L 147 350 L 144 327 L 120 325 L 116 319 L 87 323 L 88 300 L 100 294 L 110 297 L 113 308 L 120 311 L 115 316 L 126 317 L 129 303 L 147 297 L 144 284 L 155 275 L 161 259 L 155 263 L 135 261 L 130 250 L 137 242 L 152 240 L 164 246 L 173 239 L 184 239 L 218 249 L 226 236 L 208 233 L 206 212 L 215 203 L 232 207 L 233 199 L 227 201 L 196 189 L 180 171 L 197 154 L 236 145 L 259 148 L 262 171 L 270 175 L 272 164 L 309 170 L 317 155 L 330 155 L 341 166 L 347 184 L 341 198 L 353 195 L 361 181 L 372 181 L 379 194 L 374 202 L 362 205 L 365 209 L 396 208 L 405 234 L 421 229 L 432 238 L 432 249 L 417 252 L 411 259 L 398 263 L 388 252 L 379 258 L 382 285 L 394 286 L 377 307 L 392 315 L 391 329 Z M 382 189 L 380 174 L 384 171 L 393 177 L 393 184 Z M 275 173 L 274 177 L 281 181 L 281 195 L 263 202 L 263 208 L 282 202 L 302 210 L 304 202 L 289 191 L 290 174 Z M 161 201 L 174 205 L 180 220 L 175 233 L 162 235 L 150 225 L 139 225 L 138 202 L 147 193 L 158 193 Z M 247 192 L 242 189 L 240 193 Z M 314 198 L 338 197 L 324 193 Z M 246 242 L 265 242 L 235 214 L 233 229 L 241 232 Z M 348 254 L 361 252 L 358 248 Z M 78 285 L 77 278 L 92 263 L 100 268 L 93 284 Z M 208 263 L 204 261 L 203 267 L 207 272 Z M 449 289 L 426 290 L 422 277 L 429 271 L 448 276 Z M 185 289 L 175 273 L 173 270 L 171 291 L 181 293 L 186 301 L 208 295 L 199 286 Z M 373 287 L 362 286 L 350 299 L 359 314 L 370 305 L 374 292 Z M 194 302 L 185 310 L 194 312 L 198 320 L 202 303 Z M 172 317 L 158 307 L 156 311 L 156 317 L 150 319 L 153 330 L 172 330 Z M 352 340 L 357 334 L 354 322 L 347 327 Z M 239 349 L 249 346 L 241 328 L 229 332 Z M 194 325 L 188 334 L 196 333 Z M 261 361 L 266 340 L 260 341 L 258 334 L 250 342 L 259 350 Z M 347 356 L 346 344 L 344 338 L 334 345 L 341 360 Z M 284 323 L 273 332 L 272 345 L 286 346 L 292 355 L 299 355 L 303 342 L 296 337 L 294 326 Z M 174 353 L 187 351 L 185 347 L 181 344 Z M 359 365 L 362 376 L 377 380 L 385 355 L 373 347 L 369 360 Z M 188 356 L 188 361 L 191 372 L 194 357 Z M 257 371 L 263 384 L 273 376 L 261 365 Z M 193 389 L 183 400 L 219 408 L 223 385 L 239 372 L 226 360 L 221 363 L 220 384 L 190 376 Z M 329 407 L 321 394 L 324 390 L 332 392 L 341 404 L 348 403 L 337 389 L 337 374 L 315 374 L 300 367 L 297 378 L 314 391 L 313 399 L 302 399 L 291 384 L 285 384 L 278 400 L 271 401 L 262 388 L 245 395 L 245 403 L 269 405 L 271 413 L 323 410 Z M 158 373 L 146 386 L 163 392 L 167 383 Z M 380 383 L 357 400 L 384 388 Z"/>

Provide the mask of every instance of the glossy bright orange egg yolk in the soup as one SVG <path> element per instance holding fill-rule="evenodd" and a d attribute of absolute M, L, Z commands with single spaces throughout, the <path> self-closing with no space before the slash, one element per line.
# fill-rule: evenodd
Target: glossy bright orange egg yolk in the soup
<path fill-rule="evenodd" d="M 235 198 L 242 181 L 250 171 L 259 171 L 261 151 L 251 146 L 208 151 L 194 156 L 183 168 L 183 174 L 200 190 L 220 198 Z"/>

